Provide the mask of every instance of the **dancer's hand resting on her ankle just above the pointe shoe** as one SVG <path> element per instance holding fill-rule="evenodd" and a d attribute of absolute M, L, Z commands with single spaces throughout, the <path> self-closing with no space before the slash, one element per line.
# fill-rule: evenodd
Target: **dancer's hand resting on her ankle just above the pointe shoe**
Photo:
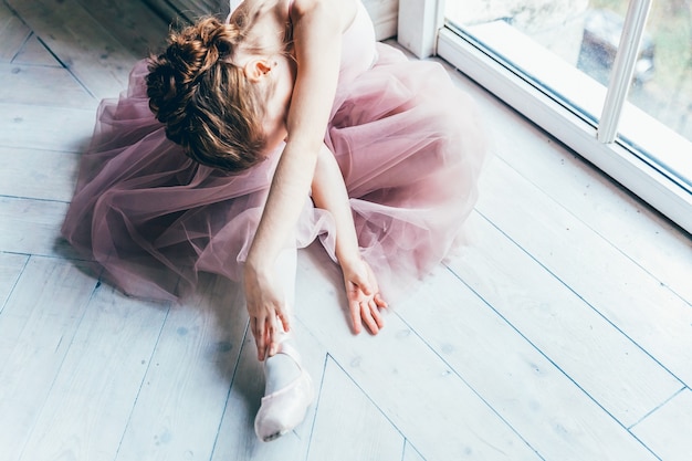
<path fill-rule="evenodd" d="M 279 336 L 289 332 L 289 312 L 283 301 L 281 285 L 264 271 L 247 263 L 243 273 L 245 303 L 250 316 L 250 329 L 258 346 L 260 362 L 276 353 Z"/>

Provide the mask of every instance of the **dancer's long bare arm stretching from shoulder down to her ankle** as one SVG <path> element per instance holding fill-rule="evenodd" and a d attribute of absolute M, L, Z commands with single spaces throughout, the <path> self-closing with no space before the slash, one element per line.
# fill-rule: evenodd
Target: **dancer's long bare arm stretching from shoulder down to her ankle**
<path fill-rule="evenodd" d="M 262 219 L 244 268 L 244 290 L 258 357 L 276 349 L 277 317 L 290 329 L 276 258 L 295 229 L 323 145 L 339 73 L 342 31 L 353 18 L 354 1 L 295 0 L 292 9 L 297 75 L 289 109 L 286 146 L 270 188 Z M 349 15 L 350 14 L 350 15 Z"/>

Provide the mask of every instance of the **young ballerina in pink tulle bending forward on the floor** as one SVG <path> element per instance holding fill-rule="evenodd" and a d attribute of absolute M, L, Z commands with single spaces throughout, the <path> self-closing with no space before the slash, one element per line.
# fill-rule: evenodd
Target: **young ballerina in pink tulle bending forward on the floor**
<path fill-rule="evenodd" d="M 207 271 L 242 280 L 266 396 L 255 431 L 313 399 L 290 335 L 295 251 L 319 238 L 353 329 L 452 247 L 484 156 L 445 71 L 376 43 L 360 0 L 245 0 L 172 33 L 104 101 L 65 238 L 128 294 L 175 300 Z M 378 283 L 380 282 L 380 283 Z"/>

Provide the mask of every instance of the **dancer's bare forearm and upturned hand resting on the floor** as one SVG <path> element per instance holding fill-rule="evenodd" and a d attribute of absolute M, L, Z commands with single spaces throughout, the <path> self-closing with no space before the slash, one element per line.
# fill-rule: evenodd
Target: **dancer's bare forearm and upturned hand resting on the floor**
<path fill-rule="evenodd" d="M 387 303 L 379 294 L 373 271 L 360 256 L 344 177 L 326 146 L 323 146 L 317 158 L 313 178 L 313 201 L 317 208 L 328 210 L 336 223 L 336 259 L 344 273 L 354 332 L 360 333 L 365 323 L 373 334 L 377 334 L 384 326 L 379 310 L 387 307 Z"/>

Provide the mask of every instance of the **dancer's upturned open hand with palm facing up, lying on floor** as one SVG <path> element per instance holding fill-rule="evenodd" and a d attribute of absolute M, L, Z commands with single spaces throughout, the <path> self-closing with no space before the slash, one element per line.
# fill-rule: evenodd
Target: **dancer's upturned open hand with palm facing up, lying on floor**
<path fill-rule="evenodd" d="M 376 335 L 385 326 L 379 310 L 386 308 L 387 303 L 379 293 L 370 265 L 358 259 L 354 263 L 342 263 L 342 271 L 354 333 L 359 334 L 365 323 Z"/>

